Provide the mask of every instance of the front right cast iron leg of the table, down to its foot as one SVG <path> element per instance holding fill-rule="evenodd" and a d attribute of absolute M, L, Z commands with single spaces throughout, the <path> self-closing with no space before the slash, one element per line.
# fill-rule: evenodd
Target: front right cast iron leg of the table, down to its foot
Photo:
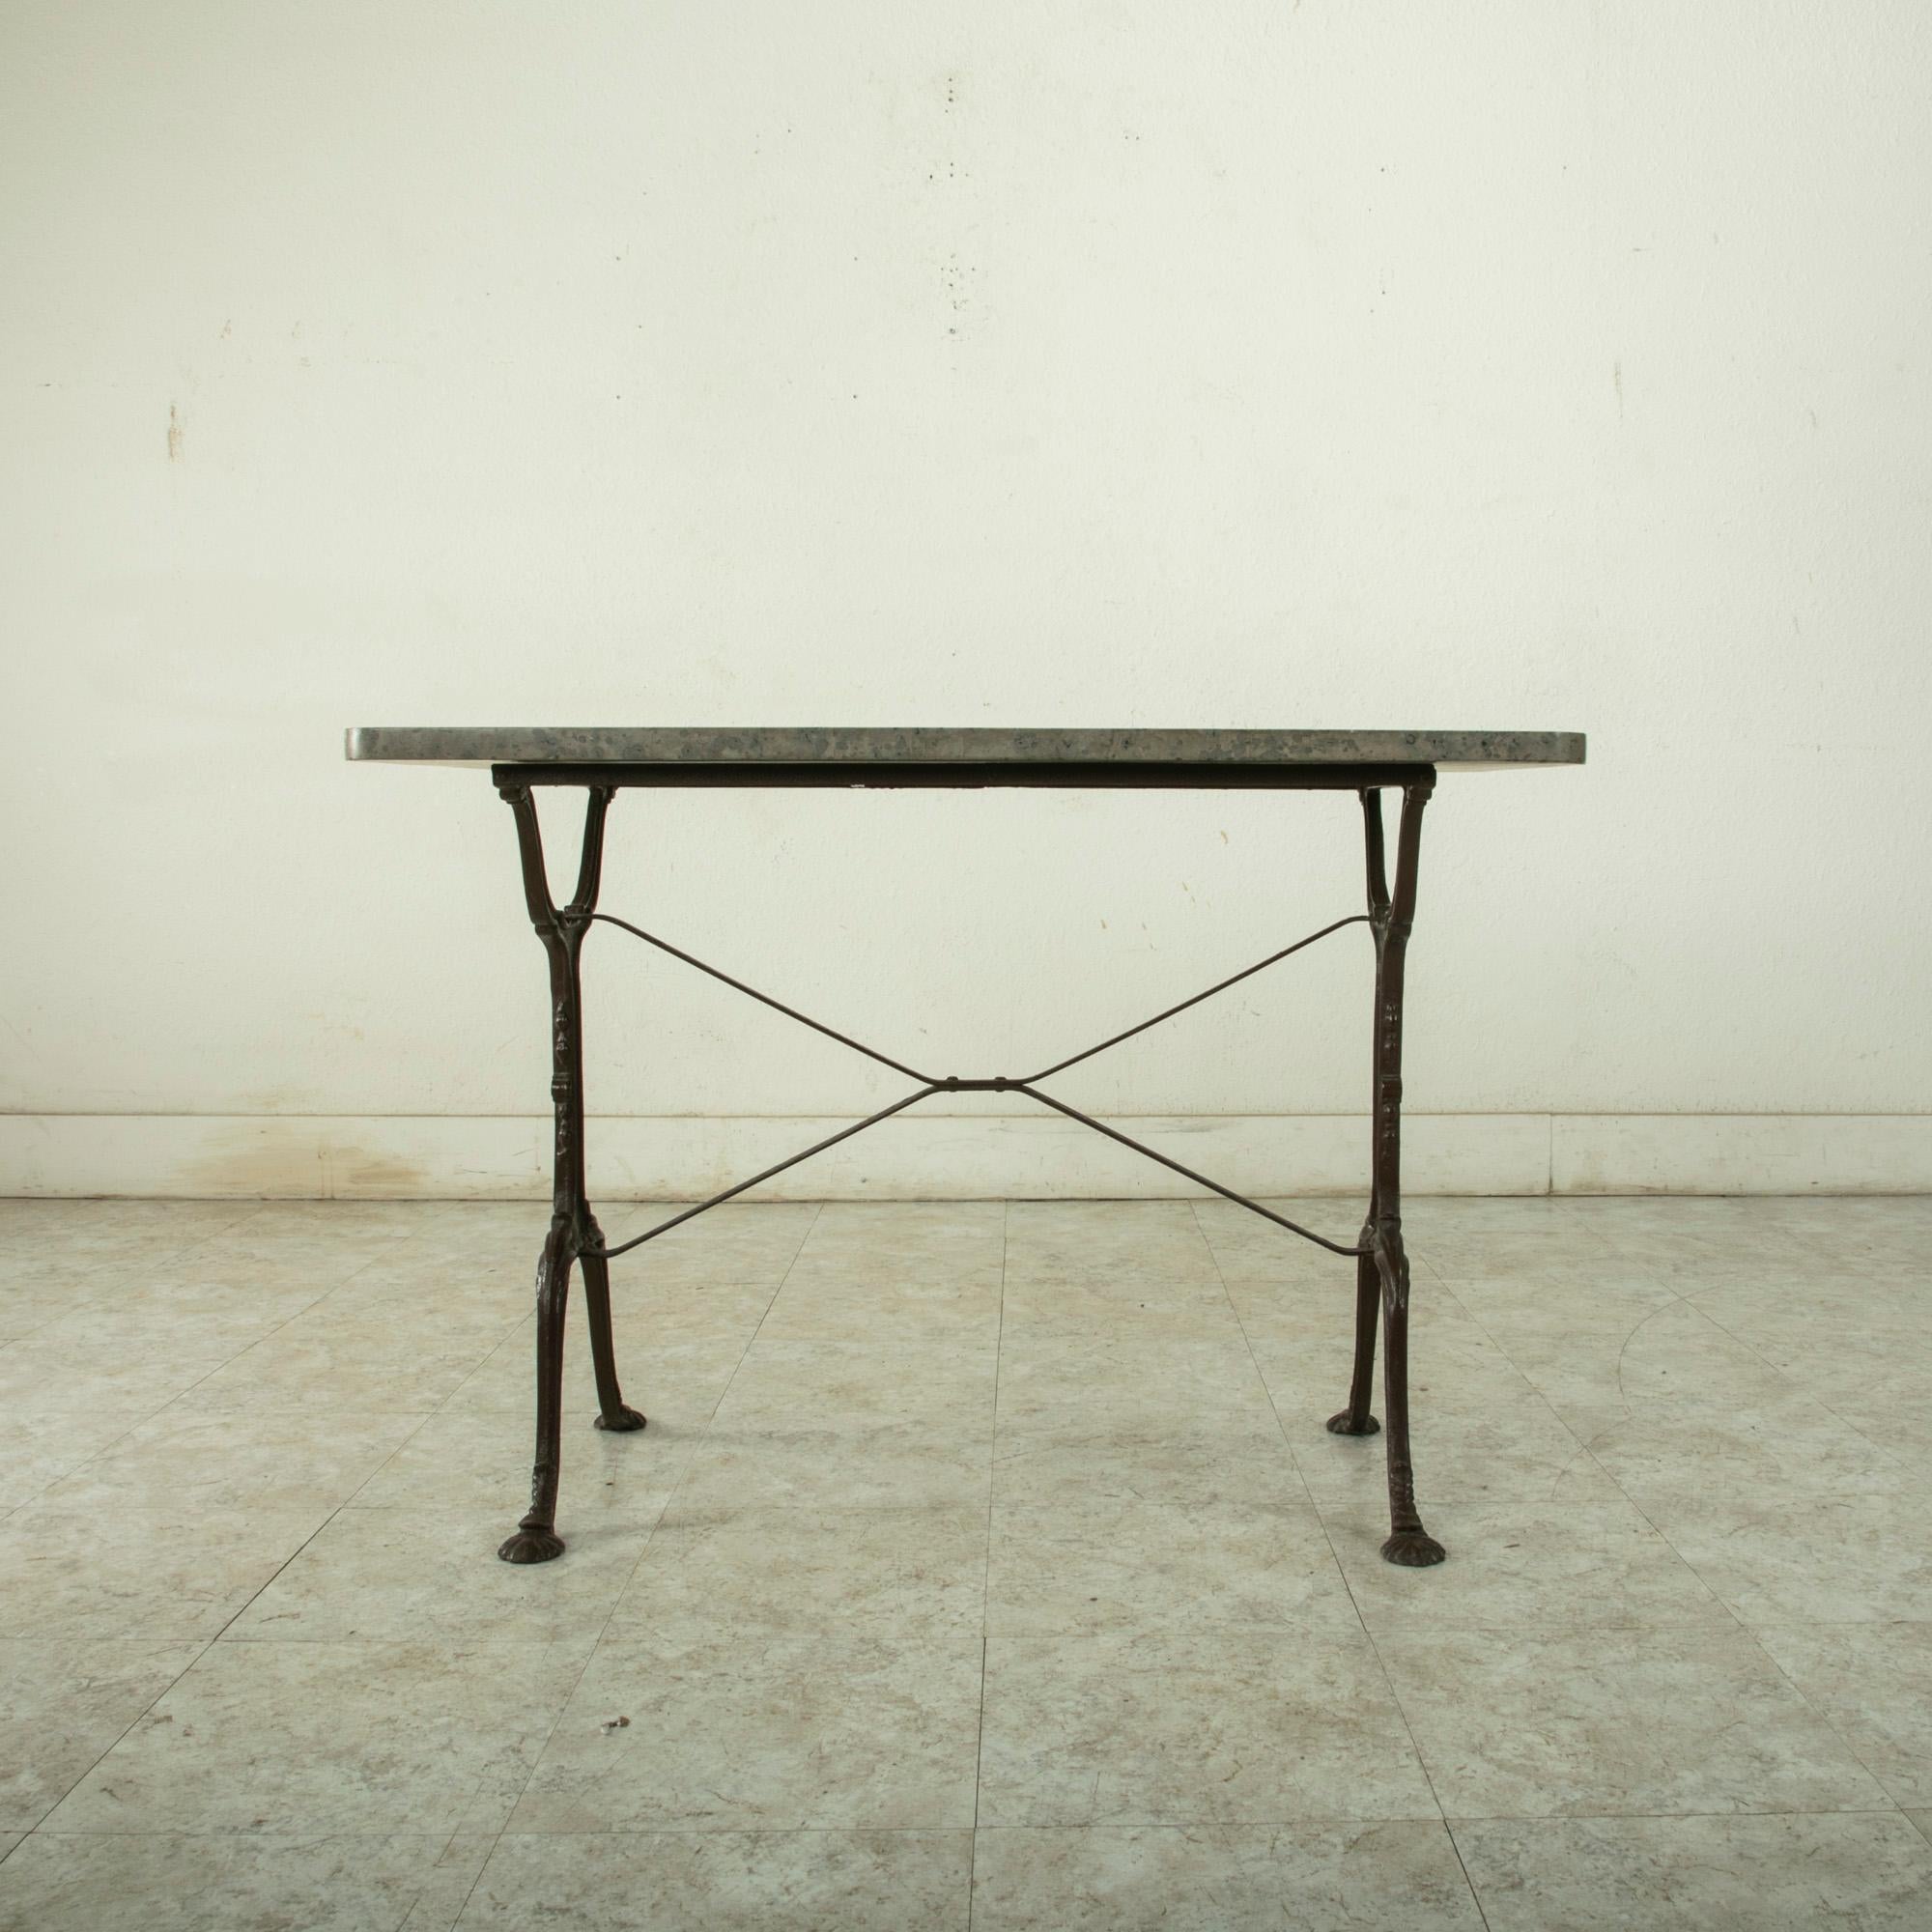
<path fill-rule="evenodd" d="M 1381 1401 L 1389 1416 L 1389 1540 L 1383 1557 L 1406 1567 L 1441 1563 L 1443 1546 L 1416 1515 L 1416 1478 L 1408 1461 L 1408 1254 L 1403 1248 L 1403 964 L 1416 918 L 1416 860 L 1422 846 L 1422 808 L 1435 775 L 1403 786 L 1403 829 L 1395 848 L 1395 896 L 1376 906 L 1376 1192 L 1374 1265 L 1381 1277 L 1383 1366 Z M 1379 831 L 1381 813 L 1376 813 Z M 1372 838 L 1372 846 L 1379 838 Z"/>

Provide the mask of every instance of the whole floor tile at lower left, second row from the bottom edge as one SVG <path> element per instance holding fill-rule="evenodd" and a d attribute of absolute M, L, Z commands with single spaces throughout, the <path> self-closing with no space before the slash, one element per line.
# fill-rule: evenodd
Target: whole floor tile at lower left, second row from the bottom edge
<path fill-rule="evenodd" d="M 41 1830 L 498 1830 L 583 1656 L 583 1644 L 211 1644 Z"/>

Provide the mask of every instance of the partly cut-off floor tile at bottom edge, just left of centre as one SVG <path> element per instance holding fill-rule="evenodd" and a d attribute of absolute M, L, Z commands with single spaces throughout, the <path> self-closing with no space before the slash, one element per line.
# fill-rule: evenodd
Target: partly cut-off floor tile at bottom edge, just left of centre
<path fill-rule="evenodd" d="M 970 1832 L 506 1833 L 464 1932 L 966 1932 Z"/>

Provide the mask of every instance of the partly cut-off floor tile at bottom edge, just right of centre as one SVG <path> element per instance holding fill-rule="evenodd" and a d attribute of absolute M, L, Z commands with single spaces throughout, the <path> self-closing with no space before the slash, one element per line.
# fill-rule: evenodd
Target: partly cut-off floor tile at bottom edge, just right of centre
<path fill-rule="evenodd" d="M 1439 1820 L 983 1830 L 974 1932 L 1484 1932 Z"/>

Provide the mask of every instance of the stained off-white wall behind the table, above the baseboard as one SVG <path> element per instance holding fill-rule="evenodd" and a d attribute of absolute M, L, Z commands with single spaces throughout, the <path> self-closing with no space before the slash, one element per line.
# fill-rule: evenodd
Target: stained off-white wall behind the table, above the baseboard
<path fill-rule="evenodd" d="M 129 1184 L 54 1115 L 240 1121 L 143 1159 L 247 1188 L 303 1184 L 259 1117 L 543 1107 L 506 810 L 350 723 L 1584 728 L 1432 808 L 1416 1109 L 1922 1115 L 1922 8 L 4 35 L 14 1184 Z M 605 904 L 1020 1070 L 1354 910 L 1352 813 L 632 794 Z M 1358 1109 L 1327 947 L 1068 1097 Z M 601 1109 L 896 1090 L 618 935 L 589 980 Z"/>

